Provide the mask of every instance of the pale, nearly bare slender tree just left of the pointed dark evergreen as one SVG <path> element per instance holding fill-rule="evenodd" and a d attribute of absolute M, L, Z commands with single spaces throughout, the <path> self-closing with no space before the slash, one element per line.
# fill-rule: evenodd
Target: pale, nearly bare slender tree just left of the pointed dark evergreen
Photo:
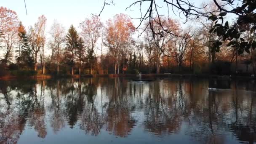
<path fill-rule="evenodd" d="M 49 33 L 51 35 L 51 40 L 49 41 L 51 49 L 51 63 L 53 63 L 53 61 L 57 62 L 57 74 L 59 74 L 61 48 L 62 44 L 65 42 L 64 27 L 58 21 L 54 20 Z"/>

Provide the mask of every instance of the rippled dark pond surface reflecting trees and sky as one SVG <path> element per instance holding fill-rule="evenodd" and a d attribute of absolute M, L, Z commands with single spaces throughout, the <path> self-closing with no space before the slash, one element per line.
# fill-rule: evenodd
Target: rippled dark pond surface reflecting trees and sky
<path fill-rule="evenodd" d="M 0 143 L 253 143 L 255 91 L 248 80 L 0 81 Z"/>

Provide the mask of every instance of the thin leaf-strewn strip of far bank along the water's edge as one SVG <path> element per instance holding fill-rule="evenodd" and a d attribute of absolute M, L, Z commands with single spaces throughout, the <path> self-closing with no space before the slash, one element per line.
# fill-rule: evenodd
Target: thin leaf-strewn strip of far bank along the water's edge
<path fill-rule="evenodd" d="M 15 79 L 51 79 L 51 78 L 79 78 L 79 77 L 136 77 L 136 75 L 126 74 L 96 74 L 96 75 L 35 75 L 29 77 L 16 77 L 16 76 L 4 76 L 0 77 L 0 80 L 15 80 Z M 256 80 L 256 77 L 249 76 L 235 76 L 235 75 L 195 75 L 195 74 L 141 74 L 141 77 L 187 77 L 187 78 L 220 78 L 220 79 L 250 79 Z"/>

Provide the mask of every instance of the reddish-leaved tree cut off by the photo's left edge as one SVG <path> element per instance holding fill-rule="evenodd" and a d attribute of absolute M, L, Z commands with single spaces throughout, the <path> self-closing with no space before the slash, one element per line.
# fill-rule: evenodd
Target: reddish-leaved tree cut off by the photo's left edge
<path fill-rule="evenodd" d="M 0 7 L 0 42 L 4 49 L 3 63 L 7 63 L 13 56 L 13 46 L 17 41 L 19 27 L 18 16 L 15 11 Z"/>

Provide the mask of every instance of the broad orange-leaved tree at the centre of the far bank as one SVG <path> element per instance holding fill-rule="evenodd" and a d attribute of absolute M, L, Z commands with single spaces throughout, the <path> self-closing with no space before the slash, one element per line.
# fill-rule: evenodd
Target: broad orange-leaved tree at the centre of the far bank
<path fill-rule="evenodd" d="M 120 60 L 131 45 L 133 32 L 135 32 L 135 27 L 131 19 L 123 13 L 107 21 L 104 45 L 107 46 L 108 52 L 115 61 L 115 74 L 119 74 Z"/>

